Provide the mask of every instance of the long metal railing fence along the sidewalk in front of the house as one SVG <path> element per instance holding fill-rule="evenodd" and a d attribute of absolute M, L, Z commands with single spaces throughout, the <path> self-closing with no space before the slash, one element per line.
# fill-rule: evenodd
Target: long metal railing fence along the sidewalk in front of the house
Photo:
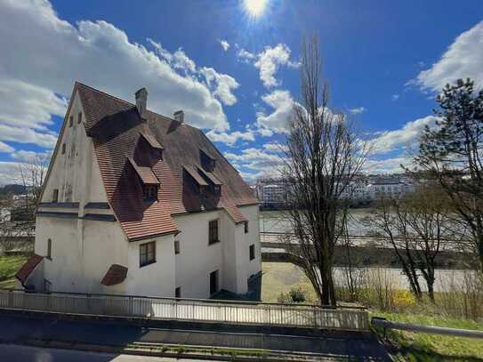
<path fill-rule="evenodd" d="M 367 330 L 361 308 L 326 309 L 313 305 L 170 299 L 113 294 L 26 293 L 1 289 L 0 309 L 125 318 L 171 319 L 263 326 Z"/>

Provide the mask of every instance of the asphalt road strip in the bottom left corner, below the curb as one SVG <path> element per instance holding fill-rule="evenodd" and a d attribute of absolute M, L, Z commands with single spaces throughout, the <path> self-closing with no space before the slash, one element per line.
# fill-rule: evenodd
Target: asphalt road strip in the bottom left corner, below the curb
<path fill-rule="evenodd" d="M 199 359 L 116 355 L 84 350 L 56 350 L 13 344 L 0 344 L 0 358 L 2 361 L 9 362 L 201 362 Z M 206 362 L 206 359 L 204 362 Z"/>

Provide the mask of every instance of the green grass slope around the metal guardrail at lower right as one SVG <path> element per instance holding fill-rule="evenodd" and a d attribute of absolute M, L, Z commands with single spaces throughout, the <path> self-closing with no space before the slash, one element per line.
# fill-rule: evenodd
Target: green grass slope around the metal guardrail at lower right
<path fill-rule="evenodd" d="M 483 331 L 483 323 L 472 320 L 401 313 L 372 313 L 372 317 L 383 317 L 401 323 Z M 382 328 L 375 328 L 374 331 L 383 337 Z M 480 339 L 398 330 L 387 330 L 386 337 L 390 352 L 397 361 L 483 362 L 483 341 Z"/>

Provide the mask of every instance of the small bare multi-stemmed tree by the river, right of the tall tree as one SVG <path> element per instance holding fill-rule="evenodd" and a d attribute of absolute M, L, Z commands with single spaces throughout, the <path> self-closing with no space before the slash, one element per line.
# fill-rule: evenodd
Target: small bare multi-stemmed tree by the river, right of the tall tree
<path fill-rule="evenodd" d="M 392 245 L 417 299 L 420 276 L 434 302 L 434 271 L 442 243 L 455 237 L 447 197 L 436 185 L 419 185 L 402 198 L 382 198 L 366 223 Z"/>

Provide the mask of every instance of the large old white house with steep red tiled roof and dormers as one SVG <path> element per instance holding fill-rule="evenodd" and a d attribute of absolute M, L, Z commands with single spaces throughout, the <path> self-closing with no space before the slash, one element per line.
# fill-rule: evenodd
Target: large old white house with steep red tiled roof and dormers
<path fill-rule="evenodd" d="M 76 83 L 36 210 L 36 291 L 207 298 L 261 272 L 258 202 L 205 134 Z"/>

